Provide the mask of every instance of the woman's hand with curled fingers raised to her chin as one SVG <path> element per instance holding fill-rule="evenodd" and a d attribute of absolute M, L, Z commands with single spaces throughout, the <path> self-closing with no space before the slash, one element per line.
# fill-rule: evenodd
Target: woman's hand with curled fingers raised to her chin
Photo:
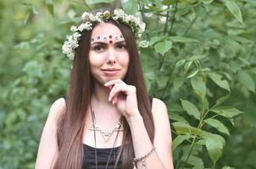
<path fill-rule="evenodd" d="M 109 101 L 112 101 L 127 119 L 128 117 L 140 116 L 136 99 L 136 87 L 126 85 L 121 79 L 110 80 L 105 84 L 109 87 Z"/>

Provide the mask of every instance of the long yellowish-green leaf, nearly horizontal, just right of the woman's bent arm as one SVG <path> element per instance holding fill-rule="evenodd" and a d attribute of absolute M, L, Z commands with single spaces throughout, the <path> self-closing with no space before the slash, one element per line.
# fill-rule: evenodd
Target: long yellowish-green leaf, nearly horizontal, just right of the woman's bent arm
<path fill-rule="evenodd" d="M 194 134 L 198 136 L 203 136 L 204 134 L 203 130 L 199 128 L 194 128 L 190 126 L 189 123 L 175 122 L 172 123 L 172 125 L 178 134 Z"/>

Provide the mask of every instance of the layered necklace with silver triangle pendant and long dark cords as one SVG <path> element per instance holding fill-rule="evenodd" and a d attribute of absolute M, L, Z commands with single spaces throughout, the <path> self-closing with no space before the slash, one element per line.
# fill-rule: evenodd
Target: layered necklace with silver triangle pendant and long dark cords
<path fill-rule="evenodd" d="M 90 102 L 90 106 L 91 106 L 91 114 L 92 114 L 92 127 L 89 128 L 89 130 L 92 130 L 93 134 L 94 134 L 95 168 L 97 169 L 96 132 L 100 132 L 100 134 L 102 134 L 105 143 L 107 143 L 109 141 L 109 139 L 114 134 L 114 132 L 117 132 L 117 134 L 115 136 L 115 139 L 114 139 L 114 144 L 115 144 L 116 139 L 118 138 L 119 132 L 123 131 L 124 127 L 123 127 L 123 125 L 121 123 L 121 117 L 120 117 L 120 121 L 115 125 L 115 127 L 114 127 L 114 129 L 112 131 L 103 131 L 101 128 L 99 128 L 99 126 L 97 125 L 97 122 L 95 120 L 95 113 L 94 113 L 94 110 L 93 110 L 93 107 L 92 107 L 92 101 Z M 112 155 L 112 151 L 114 150 L 114 144 L 112 146 L 112 149 L 110 150 L 109 158 L 108 158 L 107 164 L 105 166 L 105 169 L 108 169 L 108 167 L 109 167 L 109 160 L 110 160 L 110 157 Z"/>

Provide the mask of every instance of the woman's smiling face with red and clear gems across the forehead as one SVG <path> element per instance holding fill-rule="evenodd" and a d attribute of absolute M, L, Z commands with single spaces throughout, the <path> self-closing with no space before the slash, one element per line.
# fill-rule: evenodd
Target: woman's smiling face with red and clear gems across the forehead
<path fill-rule="evenodd" d="M 92 76 L 101 84 L 112 79 L 124 79 L 129 54 L 118 27 L 111 23 L 100 23 L 92 30 L 89 63 Z"/>

